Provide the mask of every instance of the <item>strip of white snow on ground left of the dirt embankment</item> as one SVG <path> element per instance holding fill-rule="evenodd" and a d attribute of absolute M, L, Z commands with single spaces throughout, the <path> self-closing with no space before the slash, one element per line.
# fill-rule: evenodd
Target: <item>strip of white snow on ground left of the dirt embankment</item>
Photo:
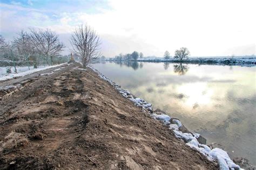
<path fill-rule="evenodd" d="M 54 66 L 46 66 L 46 67 L 42 67 L 42 68 L 35 68 L 35 69 L 31 69 L 31 70 L 26 70 L 26 69 L 24 69 L 24 67 L 21 67 L 21 69 L 17 69 L 17 70 L 20 71 L 20 72 L 18 71 L 19 73 L 12 72 L 13 74 L 8 74 L 8 75 L 4 75 L 4 76 L 2 76 L 2 74 L 1 74 L 0 81 L 7 80 L 7 79 L 13 79 L 14 77 L 21 77 L 21 76 L 29 75 L 29 74 L 32 74 L 32 73 L 42 71 L 44 69 L 62 66 L 64 64 L 66 64 L 66 63 L 62 63 L 60 65 L 54 65 Z M 28 67 L 26 67 L 26 68 L 28 68 Z M 26 70 L 26 71 L 23 71 L 23 70 Z"/>

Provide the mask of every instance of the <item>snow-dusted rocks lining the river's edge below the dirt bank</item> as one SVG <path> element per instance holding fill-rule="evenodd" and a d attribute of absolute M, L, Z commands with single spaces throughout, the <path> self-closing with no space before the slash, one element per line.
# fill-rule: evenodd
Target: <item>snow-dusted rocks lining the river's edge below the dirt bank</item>
<path fill-rule="evenodd" d="M 241 169 L 239 165 L 234 164 L 226 151 L 221 150 L 220 148 L 213 148 L 211 150 L 211 148 L 207 145 L 200 144 L 198 142 L 200 134 L 182 132 L 183 125 L 177 118 L 171 118 L 169 115 L 166 115 L 163 112 L 160 113 L 156 110 L 152 111 L 152 104 L 147 103 L 141 98 L 134 98 L 129 91 L 122 89 L 118 84 L 112 82 L 97 69 L 93 67 L 90 68 L 94 70 L 102 79 L 109 82 L 114 88 L 116 88 L 120 94 L 122 94 L 126 98 L 129 98 L 129 100 L 131 100 L 134 105 L 142 108 L 145 112 L 149 113 L 152 118 L 164 123 L 165 125 L 168 125 L 169 129 L 173 130 L 175 136 L 177 138 L 183 139 L 186 145 L 190 146 L 193 150 L 197 150 L 198 152 L 204 154 L 208 158 L 208 160 L 217 161 L 220 169 Z"/>

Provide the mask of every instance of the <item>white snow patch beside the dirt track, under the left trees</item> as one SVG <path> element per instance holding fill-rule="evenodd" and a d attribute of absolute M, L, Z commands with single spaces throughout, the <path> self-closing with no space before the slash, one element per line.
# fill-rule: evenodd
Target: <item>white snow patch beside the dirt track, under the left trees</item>
<path fill-rule="evenodd" d="M 29 68 L 28 67 L 16 67 L 17 68 L 17 72 L 18 73 L 15 73 L 14 72 L 14 67 L 11 68 L 11 74 L 7 74 L 7 75 L 4 75 L 2 74 L 3 70 L 4 72 L 6 73 L 6 67 L 0 67 L 1 69 L 1 75 L 0 75 L 0 81 L 2 80 L 7 80 L 7 79 L 12 79 L 14 77 L 21 77 L 21 76 L 25 76 L 25 75 L 29 75 L 29 74 L 32 74 L 32 73 L 36 73 L 36 72 L 39 72 L 39 71 L 42 71 L 42 70 L 45 70 L 45 69 L 48 69 L 48 68 L 53 68 L 53 67 L 58 67 L 58 66 L 62 66 L 66 63 L 62 63 L 60 65 L 54 65 L 54 66 L 46 66 L 46 67 L 42 67 L 40 66 L 41 68 L 33 68 L 31 67 L 30 70 L 28 70 Z M 57 70 L 57 69 L 56 69 Z M 55 71 L 56 71 L 55 70 Z"/>

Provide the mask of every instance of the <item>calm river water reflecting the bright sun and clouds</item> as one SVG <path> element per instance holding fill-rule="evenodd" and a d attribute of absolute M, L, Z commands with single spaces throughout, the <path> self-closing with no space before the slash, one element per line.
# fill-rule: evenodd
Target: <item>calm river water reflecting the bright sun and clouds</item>
<path fill-rule="evenodd" d="M 177 117 L 207 144 L 256 165 L 256 67 L 152 62 L 93 64 L 154 109 Z M 221 146 L 220 146 L 221 147 Z"/>

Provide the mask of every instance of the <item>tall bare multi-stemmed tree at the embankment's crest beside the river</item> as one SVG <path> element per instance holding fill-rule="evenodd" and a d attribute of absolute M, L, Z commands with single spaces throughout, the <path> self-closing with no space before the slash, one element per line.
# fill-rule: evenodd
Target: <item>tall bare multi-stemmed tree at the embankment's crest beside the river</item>
<path fill-rule="evenodd" d="M 91 60 L 97 59 L 100 53 L 100 39 L 90 26 L 80 25 L 73 32 L 70 43 L 73 51 L 82 57 L 83 66 L 86 67 Z"/>

